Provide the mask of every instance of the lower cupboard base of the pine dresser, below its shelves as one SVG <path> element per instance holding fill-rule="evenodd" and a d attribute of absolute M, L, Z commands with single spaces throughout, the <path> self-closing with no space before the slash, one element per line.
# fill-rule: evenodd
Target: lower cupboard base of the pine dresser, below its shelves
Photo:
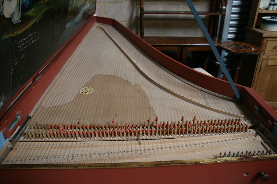
<path fill-rule="evenodd" d="M 245 42 L 264 49 L 257 59 L 251 87 L 277 108 L 277 32 L 246 27 Z"/>

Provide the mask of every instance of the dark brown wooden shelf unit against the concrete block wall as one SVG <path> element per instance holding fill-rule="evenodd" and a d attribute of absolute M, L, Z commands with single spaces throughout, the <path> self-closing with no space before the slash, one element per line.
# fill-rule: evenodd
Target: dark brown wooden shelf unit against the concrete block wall
<path fill-rule="evenodd" d="M 223 22 L 226 6 L 224 0 L 211 0 L 211 10 L 207 12 L 199 11 L 199 15 L 210 16 L 208 32 L 218 46 L 223 32 Z M 144 0 L 140 0 L 140 37 L 158 50 L 174 50 L 177 53 L 177 60 L 185 63 L 188 51 L 211 50 L 205 37 L 176 37 L 176 36 L 144 36 L 144 15 L 146 14 L 178 14 L 192 15 L 191 11 L 164 11 L 164 10 L 144 10 Z M 221 16 L 221 20 L 219 19 Z M 219 36 L 217 36 L 219 26 Z M 185 30 L 184 30 L 185 31 Z"/>

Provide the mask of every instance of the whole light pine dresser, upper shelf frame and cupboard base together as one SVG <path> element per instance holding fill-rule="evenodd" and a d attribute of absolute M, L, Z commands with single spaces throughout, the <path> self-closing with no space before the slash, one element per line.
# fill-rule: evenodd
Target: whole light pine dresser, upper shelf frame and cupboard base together
<path fill-rule="evenodd" d="M 277 16 L 277 10 L 259 8 L 262 0 L 252 2 L 244 41 L 264 49 L 257 58 L 247 58 L 255 65 L 251 87 L 274 108 L 277 108 L 277 32 L 260 28 L 262 17 Z M 248 64 L 247 67 L 251 67 Z"/>

